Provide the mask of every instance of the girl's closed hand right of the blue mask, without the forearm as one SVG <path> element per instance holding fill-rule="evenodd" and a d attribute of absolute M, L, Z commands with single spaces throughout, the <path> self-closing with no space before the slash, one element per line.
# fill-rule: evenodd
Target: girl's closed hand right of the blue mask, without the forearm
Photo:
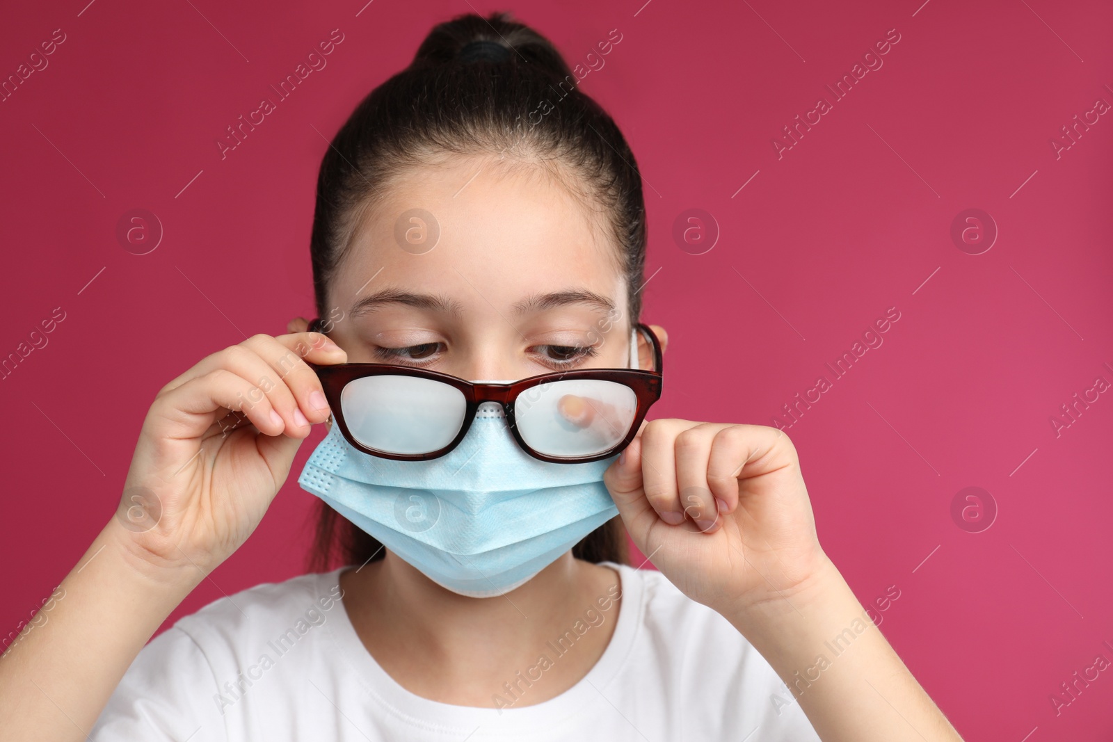
<path fill-rule="evenodd" d="M 761 425 L 657 419 L 603 475 L 630 537 L 730 620 L 828 574 L 796 448 Z"/>

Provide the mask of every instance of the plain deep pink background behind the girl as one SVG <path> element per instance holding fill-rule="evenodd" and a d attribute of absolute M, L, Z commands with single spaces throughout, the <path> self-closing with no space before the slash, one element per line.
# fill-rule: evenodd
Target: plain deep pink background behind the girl
<path fill-rule="evenodd" d="M 111 517 L 156 390 L 245 334 L 312 315 L 322 135 L 434 22 L 471 9 L 87 1 L 23 3 L 0 24 L 4 77 L 66 34 L 0 102 L 0 355 L 66 313 L 0 382 L 4 633 Z M 1113 9 L 642 2 L 523 3 L 518 17 L 573 65 L 622 34 L 582 85 L 644 177 L 643 317 L 671 337 L 656 415 L 770 425 L 826 375 L 831 388 L 788 428 L 820 540 L 864 603 L 899 590 L 881 627 L 930 695 L 967 740 L 1110 739 L 1113 673 L 1058 715 L 1048 696 L 1096 655 L 1113 660 L 1113 394 L 1058 435 L 1050 418 L 1096 377 L 1113 382 L 1113 116 L 1057 158 L 1050 140 L 1113 103 Z M 221 160 L 216 138 L 333 29 L 344 41 L 328 66 Z M 834 101 L 825 85 L 889 29 L 900 40 L 884 66 Z M 821 96 L 833 110 L 778 159 L 774 137 Z M 162 224 L 150 254 L 117 240 L 132 208 Z M 720 231 L 703 255 L 671 237 L 689 208 Z M 967 208 L 999 230 L 981 255 L 951 237 Z M 825 364 L 889 307 L 900 318 L 883 345 L 835 380 Z M 171 621 L 299 573 L 314 501 L 295 479 L 322 435 Z M 998 509 L 981 533 L 952 517 L 967 486 Z"/>

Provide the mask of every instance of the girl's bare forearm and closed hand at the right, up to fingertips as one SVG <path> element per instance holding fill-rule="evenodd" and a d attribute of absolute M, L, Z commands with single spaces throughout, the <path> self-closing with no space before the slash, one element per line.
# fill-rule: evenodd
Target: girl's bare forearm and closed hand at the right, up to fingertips
<path fill-rule="evenodd" d="M 653 421 L 604 478 L 642 553 L 750 641 L 825 742 L 961 740 L 819 546 L 782 432 Z"/>

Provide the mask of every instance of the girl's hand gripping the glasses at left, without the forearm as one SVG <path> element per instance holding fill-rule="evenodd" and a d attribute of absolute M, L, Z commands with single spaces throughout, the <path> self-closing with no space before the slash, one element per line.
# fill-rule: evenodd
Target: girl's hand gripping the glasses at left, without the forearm
<path fill-rule="evenodd" d="M 145 572 L 199 582 L 263 520 L 329 409 L 305 360 L 345 363 L 321 333 L 255 335 L 164 386 L 136 444 L 114 531 Z"/>

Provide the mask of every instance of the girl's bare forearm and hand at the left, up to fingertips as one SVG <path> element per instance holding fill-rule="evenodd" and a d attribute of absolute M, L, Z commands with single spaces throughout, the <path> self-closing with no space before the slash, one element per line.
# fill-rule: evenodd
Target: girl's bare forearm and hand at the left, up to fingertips
<path fill-rule="evenodd" d="M 116 517 L 0 656 L 0 742 L 86 739 L 147 640 L 252 534 L 328 417 L 303 358 L 346 355 L 317 333 L 256 335 L 159 390 Z"/>

